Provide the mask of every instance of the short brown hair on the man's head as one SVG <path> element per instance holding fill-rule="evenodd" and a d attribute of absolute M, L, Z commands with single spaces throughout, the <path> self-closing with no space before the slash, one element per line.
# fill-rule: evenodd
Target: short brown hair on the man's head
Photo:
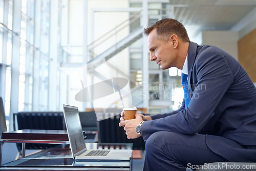
<path fill-rule="evenodd" d="M 184 42 L 189 42 L 187 31 L 183 24 L 172 18 L 159 20 L 150 27 L 144 28 L 144 34 L 149 35 L 152 30 L 156 29 L 157 39 L 167 42 L 169 37 L 176 34 Z"/>

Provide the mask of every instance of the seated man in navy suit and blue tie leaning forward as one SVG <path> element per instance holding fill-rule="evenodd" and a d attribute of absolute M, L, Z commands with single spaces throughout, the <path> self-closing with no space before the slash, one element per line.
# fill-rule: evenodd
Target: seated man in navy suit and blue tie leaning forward
<path fill-rule="evenodd" d="M 144 170 L 256 162 L 256 88 L 242 66 L 217 47 L 190 42 L 176 20 L 160 20 L 144 33 L 151 61 L 161 69 L 181 69 L 188 81 L 178 111 L 136 113 L 133 120 L 125 120 L 121 113 L 119 126 L 124 126 L 127 138 L 141 134 L 146 142 Z"/>

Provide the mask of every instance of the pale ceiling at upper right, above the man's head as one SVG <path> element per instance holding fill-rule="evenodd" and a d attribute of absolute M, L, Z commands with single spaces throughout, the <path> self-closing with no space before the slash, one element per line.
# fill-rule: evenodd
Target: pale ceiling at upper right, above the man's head
<path fill-rule="evenodd" d="M 230 30 L 256 7 L 256 0 L 169 0 L 169 4 L 172 18 L 194 28 L 191 36 L 202 30 Z"/>

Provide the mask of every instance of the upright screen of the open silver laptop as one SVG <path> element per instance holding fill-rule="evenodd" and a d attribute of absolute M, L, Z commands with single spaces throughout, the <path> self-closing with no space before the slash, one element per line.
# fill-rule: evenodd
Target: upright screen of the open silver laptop
<path fill-rule="evenodd" d="M 86 150 L 86 143 L 84 142 L 79 111 L 77 107 L 68 105 L 63 105 L 63 109 L 71 153 L 74 158 L 82 151 Z"/>

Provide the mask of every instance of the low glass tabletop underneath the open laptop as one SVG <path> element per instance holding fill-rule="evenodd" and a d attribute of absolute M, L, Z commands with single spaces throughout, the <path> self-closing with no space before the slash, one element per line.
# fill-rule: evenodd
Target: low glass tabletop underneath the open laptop
<path fill-rule="evenodd" d="M 87 149 L 132 149 L 132 143 L 86 143 Z M 38 153 L 25 158 L 6 163 L 2 167 L 78 167 L 78 166 L 106 166 L 106 167 L 129 167 L 130 161 L 103 161 L 85 160 L 76 162 L 72 158 L 69 144 L 60 144 L 56 147 L 41 150 Z M 104 161 L 105 162 L 105 161 Z M 120 163 L 121 162 L 121 163 Z M 123 163 L 122 163 L 123 162 Z"/>

